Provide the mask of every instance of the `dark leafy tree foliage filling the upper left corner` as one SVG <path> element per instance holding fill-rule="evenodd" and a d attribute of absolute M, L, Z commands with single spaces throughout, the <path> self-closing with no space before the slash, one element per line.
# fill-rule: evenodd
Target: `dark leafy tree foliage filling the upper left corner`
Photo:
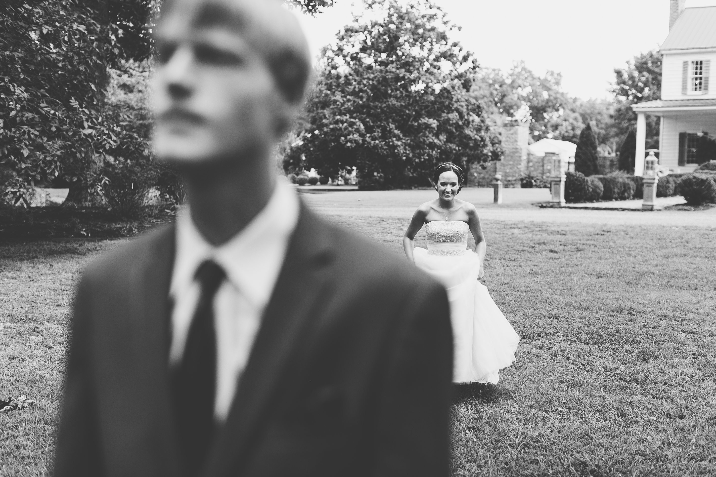
<path fill-rule="evenodd" d="M 122 124 L 127 117 L 105 110 L 108 68 L 150 56 L 147 19 L 157 6 L 155 0 L 0 6 L 0 163 L 11 171 L 4 189 L 13 202 L 29 185 L 57 181 L 70 185 L 68 200 L 82 200 L 102 154 L 131 139 L 124 134 L 129 123 Z"/>

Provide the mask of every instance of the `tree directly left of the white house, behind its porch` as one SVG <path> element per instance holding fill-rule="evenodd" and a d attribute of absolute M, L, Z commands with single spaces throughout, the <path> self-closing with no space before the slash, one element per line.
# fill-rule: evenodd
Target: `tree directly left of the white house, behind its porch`
<path fill-rule="evenodd" d="M 614 122 L 623 134 L 637 127 L 637 114 L 631 106 L 660 99 L 662 94 L 662 55 L 657 50 L 634 56 L 626 68 L 614 69 L 612 84 L 616 108 Z M 659 148 L 659 118 L 647 116 L 647 149 Z"/>

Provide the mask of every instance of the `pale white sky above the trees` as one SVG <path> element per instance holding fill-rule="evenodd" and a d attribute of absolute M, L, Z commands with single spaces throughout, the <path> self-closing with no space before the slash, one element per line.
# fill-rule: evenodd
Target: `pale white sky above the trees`
<path fill-rule="evenodd" d="M 482 66 L 509 69 L 524 60 L 537 74 L 560 72 L 571 96 L 610 97 L 614 68 L 656 48 L 669 32 L 669 0 L 435 0 L 463 27 L 455 39 Z M 716 0 L 686 0 L 686 7 Z M 299 15 L 314 55 L 363 10 L 336 0 L 314 18 Z"/>

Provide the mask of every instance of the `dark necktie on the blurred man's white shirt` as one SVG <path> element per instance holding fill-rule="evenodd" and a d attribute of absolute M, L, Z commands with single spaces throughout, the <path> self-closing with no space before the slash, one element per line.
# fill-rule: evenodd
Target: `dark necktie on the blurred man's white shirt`
<path fill-rule="evenodd" d="M 196 271 L 201 292 L 180 365 L 172 372 L 172 397 L 185 476 L 198 476 L 211 450 L 216 395 L 213 301 L 226 274 L 207 260 Z"/>

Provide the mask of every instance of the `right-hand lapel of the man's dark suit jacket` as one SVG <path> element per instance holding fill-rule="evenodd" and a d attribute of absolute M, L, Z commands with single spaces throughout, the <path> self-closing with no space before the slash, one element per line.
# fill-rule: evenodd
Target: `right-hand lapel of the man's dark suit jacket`
<path fill-rule="evenodd" d="M 246 460 L 272 391 L 284 379 L 283 370 L 296 341 L 315 315 L 311 311 L 327 282 L 327 265 L 334 253 L 331 245 L 330 231 L 301 204 L 286 260 L 204 476 L 235 472 Z"/>

